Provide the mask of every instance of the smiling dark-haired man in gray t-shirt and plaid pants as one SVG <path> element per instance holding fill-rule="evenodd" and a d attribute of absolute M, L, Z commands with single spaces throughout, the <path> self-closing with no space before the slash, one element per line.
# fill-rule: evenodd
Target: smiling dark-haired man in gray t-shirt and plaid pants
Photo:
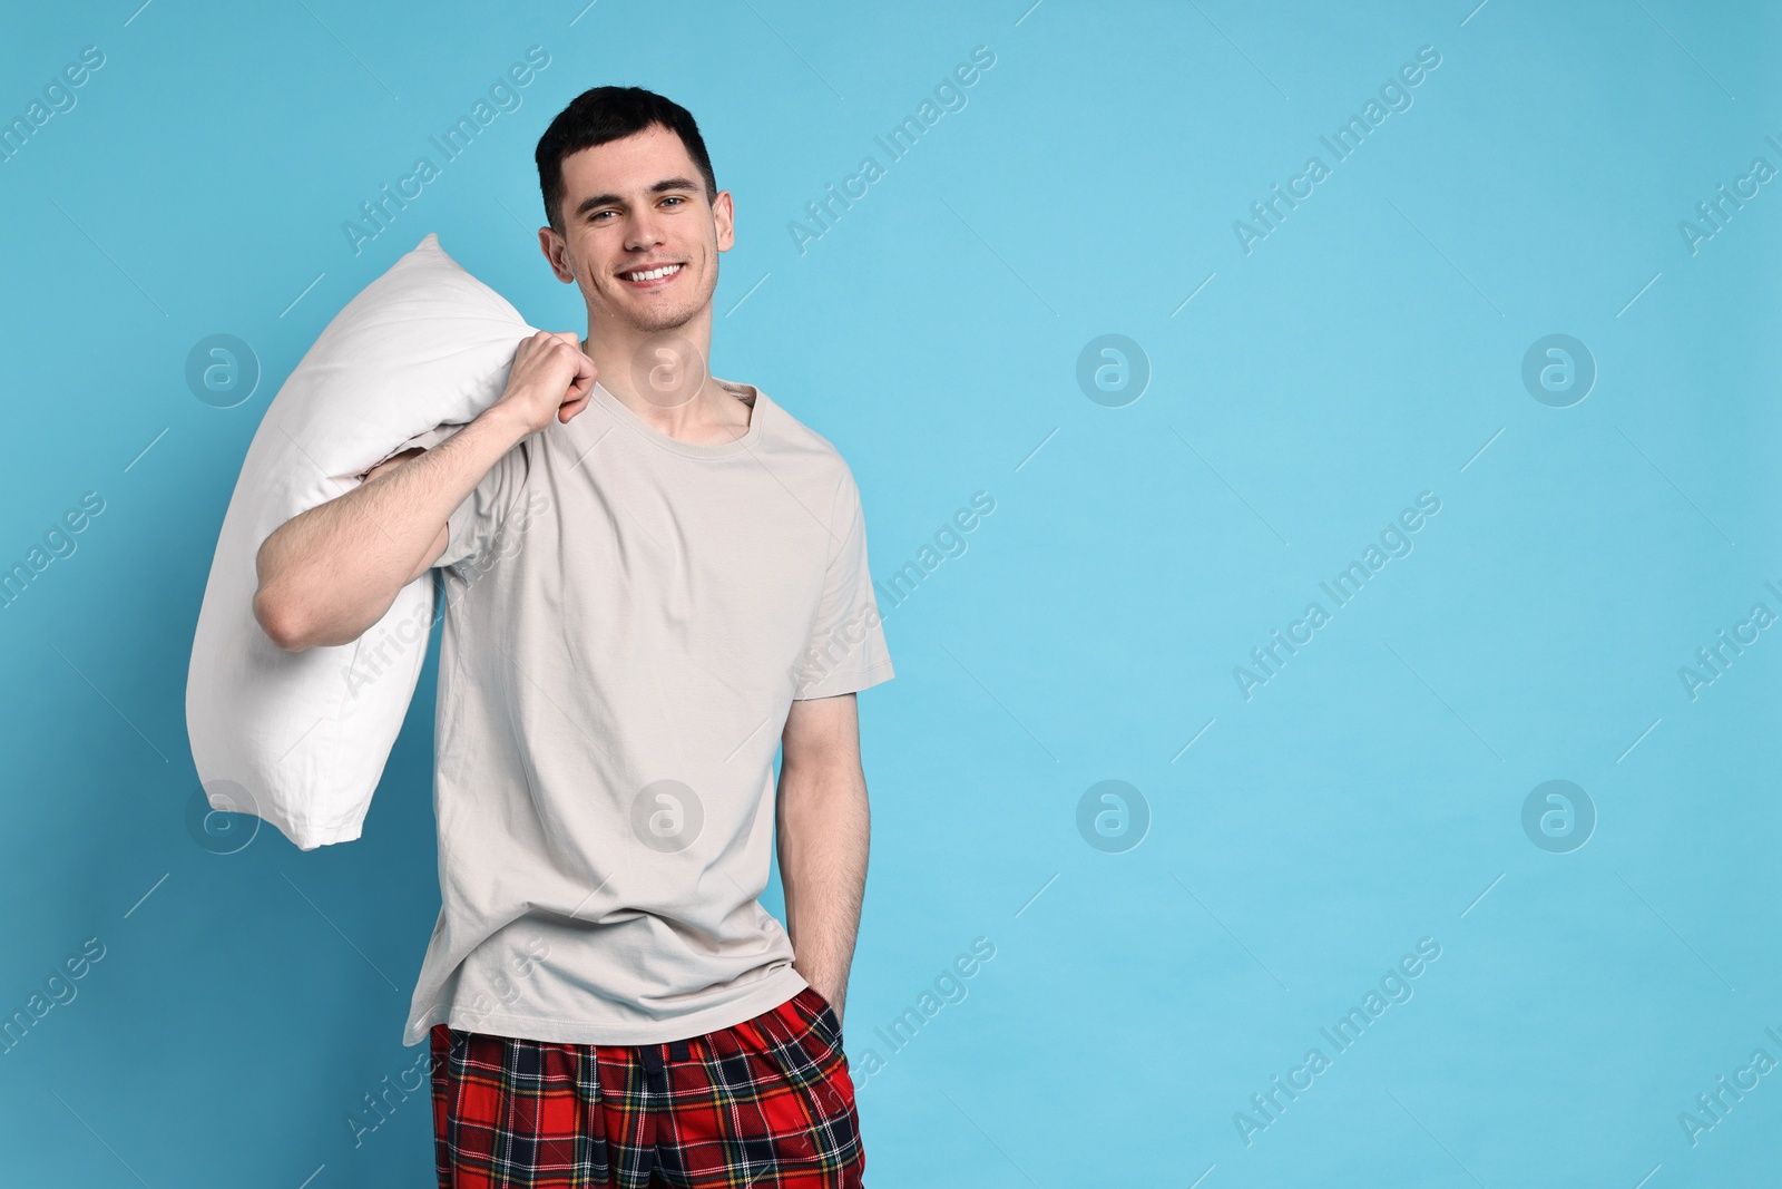
<path fill-rule="evenodd" d="M 536 160 L 586 340 L 522 340 L 476 421 L 283 524 L 255 611 L 346 644 L 444 569 L 442 907 L 405 1032 L 440 1185 L 859 1185 L 854 695 L 893 676 L 859 490 L 706 367 L 734 210 L 693 118 L 595 87 Z"/>

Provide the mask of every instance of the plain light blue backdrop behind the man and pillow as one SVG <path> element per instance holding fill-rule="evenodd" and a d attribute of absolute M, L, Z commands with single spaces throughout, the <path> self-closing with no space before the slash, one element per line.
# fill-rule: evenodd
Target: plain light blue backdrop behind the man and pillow
<path fill-rule="evenodd" d="M 1677 1119 L 1782 1061 L 1782 631 L 1679 679 L 1782 611 L 1782 184 L 1693 255 L 1677 230 L 1782 168 L 1773 9 L 135 4 L 0 43 L 7 119 L 105 53 L 0 164 L 0 562 L 105 499 L 0 610 L 0 1013 L 105 947 L 0 1055 L 7 1184 L 433 1184 L 424 1091 L 347 1123 L 419 1052 L 433 663 L 360 841 L 228 856 L 187 829 L 185 667 L 248 440 L 358 289 L 438 232 L 584 328 L 531 153 L 608 82 L 699 118 L 738 205 L 715 371 L 843 451 L 880 581 L 996 499 L 886 606 L 898 676 L 861 697 L 868 1184 L 1775 1175 L 1782 1073 L 1696 1146 Z M 355 255 L 340 223 L 531 45 L 524 107 Z M 969 105 L 800 255 L 788 223 L 978 45 Z M 1413 107 L 1246 255 L 1233 221 L 1426 45 Z M 184 380 L 212 333 L 264 369 L 235 408 Z M 1076 385 L 1103 333 L 1151 365 L 1123 408 Z M 1549 333 L 1597 362 L 1570 408 L 1520 380 Z M 1246 701 L 1233 667 L 1426 490 L 1415 551 Z M 1076 827 L 1105 779 L 1151 815 L 1119 854 Z M 1549 779 L 1598 813 L 1570 854 L 1522 829 Z M 875 1037 L 980 936 L 964 1002 Z M 1420 938 L 1415 996 L 1246 1144 L 1233 1112 Z"/>

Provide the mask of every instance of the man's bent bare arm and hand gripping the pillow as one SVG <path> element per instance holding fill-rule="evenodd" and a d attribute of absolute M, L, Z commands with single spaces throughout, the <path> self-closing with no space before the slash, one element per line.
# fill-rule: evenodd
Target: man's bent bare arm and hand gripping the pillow
<path fill-rule="evenodd" d="M 552 417 L 579 414 L 593 380 L 576 335 L 524 339 L 506 390 L 476 421 L 285 521 L 255 558 L 253 615 L 266 635 L 290 652 L 358 640 L 446 553 L 451 513 L 495 462 Z"/>

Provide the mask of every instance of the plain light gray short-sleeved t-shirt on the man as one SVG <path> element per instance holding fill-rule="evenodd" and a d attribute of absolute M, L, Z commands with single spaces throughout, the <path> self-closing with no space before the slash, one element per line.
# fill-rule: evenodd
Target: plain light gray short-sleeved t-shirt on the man
<path fill-rule="evenodd" d="M 453 512 L 440 916 L 403 1036 L 654 1045 L 805 988 L 761 907 L 793 699 L 889 681 L 834 446 L 750 385 L 734 442 L 595 385 Z"/>

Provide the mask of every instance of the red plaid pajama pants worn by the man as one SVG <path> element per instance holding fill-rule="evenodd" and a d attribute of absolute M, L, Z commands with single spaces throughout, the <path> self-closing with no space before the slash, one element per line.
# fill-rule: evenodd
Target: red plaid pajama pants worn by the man
<path fill-rule="evenodd" d="M 841 1025 L 805 988 L 663 1045 L 429 1034 L 440 1189 L 861 1189 Z"/>

